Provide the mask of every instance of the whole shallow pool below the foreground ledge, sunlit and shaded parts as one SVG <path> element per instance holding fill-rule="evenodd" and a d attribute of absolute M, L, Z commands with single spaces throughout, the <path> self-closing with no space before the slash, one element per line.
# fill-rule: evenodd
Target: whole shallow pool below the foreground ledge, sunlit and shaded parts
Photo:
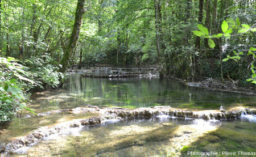
<path fill-rule="evenodd" d="M 209 122 L 172 118 L 109 121 L 85 127 L 76 136 L 40 141 L 24 151 L 23 155 L 187 156 L 188 151 L 255 151 L 255 129 L 255 124 L 242 121 Z M 234 138 L 237 135 L 239 137 Z"/>

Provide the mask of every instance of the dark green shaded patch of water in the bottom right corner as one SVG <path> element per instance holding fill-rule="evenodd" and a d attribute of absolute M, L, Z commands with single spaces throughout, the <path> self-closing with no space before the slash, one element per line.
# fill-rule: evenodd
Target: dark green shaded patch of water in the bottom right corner
<path fill-rule="evenodd" d="M 201 156 L 192 152 L 217 152 L 211 156 L 229 156 L 226 152 L 235 152 L 232 156 L 255 156 L 256 124 L 251 122 L 222 122 L 214 131 L 203 135 L 197 141 L 184 146 L 181 156 Z M 241 154 L 247 153 L 247 154 Z M 254 155 L 248 154 L 254 153 Z M 238 154 L 240 153 L 240 154 Z"/>

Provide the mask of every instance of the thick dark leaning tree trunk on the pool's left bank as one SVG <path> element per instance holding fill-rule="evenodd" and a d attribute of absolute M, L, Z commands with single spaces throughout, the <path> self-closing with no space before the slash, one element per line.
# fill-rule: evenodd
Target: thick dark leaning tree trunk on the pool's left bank
<path fill-rule="evenodd" d="M 73 27 L 73 31 L 68 41 L 68 45 L 65 48 L 63 58 L 60 61 L 60 65 L 62 66 L 60 68 L 60 72 L 62 73 L 64 73 L 65 70 L 67 70 L 68 62 L 72 56 L 73 50 L 75 49 L 77 40 L 79 39 L 79 33 L 82 26 L 82 15 L 84 15 L 84 12 L 85 12 L 84 3 L 85 3 L 85 0 L 78 0 L 77 2 L 75 24 Z"/>

